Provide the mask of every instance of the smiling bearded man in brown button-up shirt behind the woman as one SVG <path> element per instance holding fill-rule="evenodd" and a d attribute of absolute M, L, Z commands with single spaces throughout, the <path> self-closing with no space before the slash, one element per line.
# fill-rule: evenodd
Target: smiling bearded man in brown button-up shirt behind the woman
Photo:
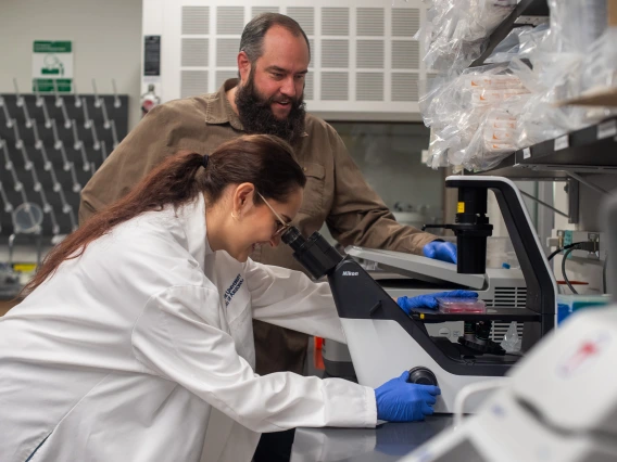
<path fill-rule="evenodd" d="M 353 163 L 332 127 L 305 114 L 304 77 L 311 60 L 306 35 L 288 16 L 265 13 L 244 28 L 238 79 L 213 94 L 154 107 L 123 140 L 81 192 L 79 219 L 124 196 L 164 157 L 180 150 L 207 154 L 242 133 L 289 141 L 307 183 L 294 226 L 310 235 L 328 224 L 342 245 L 385 248 L 454 261 L 455 247 L 432 234 L 399 224 Z M 288 246 L 263 246 L 251 258 L 302 270 Z M 304 334 L 254 321 L 256 372 L 302 374 Z M 255 461 L 289 460 L 292 432 L 262 436 Z"/>

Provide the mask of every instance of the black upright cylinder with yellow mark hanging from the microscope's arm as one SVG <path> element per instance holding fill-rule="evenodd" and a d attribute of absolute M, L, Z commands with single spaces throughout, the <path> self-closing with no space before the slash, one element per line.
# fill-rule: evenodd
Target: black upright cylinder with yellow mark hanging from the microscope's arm
<path fill-rule="evenodd" d="M 487 217 L 487 189 L 458 188 L 456 214 L 456 272 L 483 274 L 487 270 L 487 238 L 492 226 Z"/>

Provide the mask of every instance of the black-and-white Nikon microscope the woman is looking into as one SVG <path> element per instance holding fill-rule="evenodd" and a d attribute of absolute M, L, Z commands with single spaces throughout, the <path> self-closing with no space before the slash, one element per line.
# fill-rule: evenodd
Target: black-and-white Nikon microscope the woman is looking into
<path fill-rule="evenodd" d="M 492 321 L 524 323 L 522 350 L 553 329 L 556 283 L 533 231 L 516 185 L 501 177 L 449 177 L 446 188 L 458 189 L 456 222 L 444 224 L 457 239 L 457 272 L 483 274 L 488 190 L 494 192 L 527 284 L 525 308 L 500 307 L 486 313 L 444 313 L 418 309 L 407 316 L 361 265 L 341 256 L 319 233 L 305 239 L 295 228 L 282 235 L 294 258 L 315 278 L 327 277 L 341 319 L 353 367 L 361 385 L 376 388 L 410 370 L 410 382 L 438 385 L 438 413 L 452 413 L 464 386 L 499 380 L 521 358 L 507 354 L 488 338 Z M 429 335 L 427 325 L 463 321 L 457 343 Z M 469 399 L 465 412 L 475 412 L 486 398 Z"/>

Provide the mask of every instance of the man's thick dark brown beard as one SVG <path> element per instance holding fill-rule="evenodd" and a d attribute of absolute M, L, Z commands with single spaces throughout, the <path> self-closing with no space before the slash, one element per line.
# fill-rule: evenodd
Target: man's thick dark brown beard
<path fill-rule="evenodd" d="M 274 134 L 289 143 L 304 133 L 304 116 L 306 115 L 303 97 L 290 99 L 291 110 L 286 118 L 276 118 L 272 104 L 280 97 L 264 99 L 255 88 L 253 73 L 249 75 L 247 85 L 238 85 L 236 105 L 244 131 L 252 134 Z"/>

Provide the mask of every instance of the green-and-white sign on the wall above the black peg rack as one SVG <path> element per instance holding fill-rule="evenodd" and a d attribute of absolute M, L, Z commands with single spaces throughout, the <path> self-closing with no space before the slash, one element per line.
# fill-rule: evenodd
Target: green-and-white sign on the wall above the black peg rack
<path fill-rule="evenodd" d="M 33 48 L 33 91 L 73 91 L 73 42 L 36 40 Z"/>

